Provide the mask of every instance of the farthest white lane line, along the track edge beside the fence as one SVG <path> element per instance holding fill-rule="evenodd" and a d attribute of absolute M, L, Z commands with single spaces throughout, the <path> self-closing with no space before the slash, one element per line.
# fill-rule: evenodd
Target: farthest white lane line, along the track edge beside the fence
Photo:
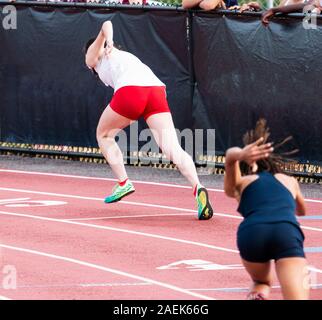
<path fill-rule="evenodd" d="M 47 173 L 47 172 L 36 172 L 36 171 L 0 169 L 0 172 L 117 182 L 117 179 L 113 179 L 113 178 L 88 177 L 88 176 L 68 175 L 68 174 L 59 174 L 59 173 Z M 161 182 L 152 182 L 152 181 L 138 181 L 138 180 L 132 180 L 132 182 L 137 183 L 137 184 L 155 185 L 155 186 L 160 186 L 160 187 L 191 189 L 191 186 L 185 186 L 185 185 L 179 185 L 179 184 L 171 184 L 171 183 L 161 183 Z M 213 191 L 213 192 L 224 193 L 224 190 L 222 190 L 222 189 L 207 188 L 207 190 L 208 191 Z M 309 198 L 307 198 L 307 199 L 304 199 L 304 200 L 307 201 L 307 202 L 322 203 L 322 199 L 309 199 Z"/>

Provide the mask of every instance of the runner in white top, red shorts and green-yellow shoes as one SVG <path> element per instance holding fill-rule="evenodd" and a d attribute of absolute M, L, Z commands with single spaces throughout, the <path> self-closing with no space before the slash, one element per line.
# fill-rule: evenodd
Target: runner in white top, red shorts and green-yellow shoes
<path fill-rule="evenodd" d="M 200 185 L 191 157 L 179 144 L 165 85 L 136 56 L 114 47 L 111 21 L 104 22 L 97 38 L 87 44 L 86 65 L 98 74 L 105 85 L 114 89 L 113 98 L 97 127 L 99 147 L 119 181 L 105 202 L 117 202 L 135 191 L 125 171 L 115 136 L 144 117 L 163 153 L 190 182 L 198 205 L 198 218 L 210 219 L 213 210 L 207 190 Z"/>

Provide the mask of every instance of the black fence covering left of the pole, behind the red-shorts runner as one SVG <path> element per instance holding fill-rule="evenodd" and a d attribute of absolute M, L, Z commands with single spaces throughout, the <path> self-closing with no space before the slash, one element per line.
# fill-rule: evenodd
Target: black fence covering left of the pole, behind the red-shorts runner
<path fill-rule="evenodd" d="M 167 84 L 178 128 L 191 125 L 185 12 L 26 5 L 17 14 L 17 30 L 0 31 L 1 141 L 96 145 L 113 91 L 85 66 L 83 47 L 108 19 L 115 43 Z"/>

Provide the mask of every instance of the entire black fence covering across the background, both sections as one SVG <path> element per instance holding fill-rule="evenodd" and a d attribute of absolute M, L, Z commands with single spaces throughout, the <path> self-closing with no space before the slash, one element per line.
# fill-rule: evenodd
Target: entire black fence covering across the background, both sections
<path fill-rule="evenodd" d="M 293 135 L 301 160 L 321 161 L 320 19 L 307 30 L 299 14 L 265 28 L 256 13 L 15 6 L 17 30 L 6 30 L 0 4 L 0 141 L 97 146 L 96 125 L 112 90 L 88 71 L 82 50 L 112 19 L 115 42 L 167 84 L 178 129 L 215 129 L 223 153 L 265 117 L 273 140 Z M 141 121 L 138 133 L 143 128 Z"/>

